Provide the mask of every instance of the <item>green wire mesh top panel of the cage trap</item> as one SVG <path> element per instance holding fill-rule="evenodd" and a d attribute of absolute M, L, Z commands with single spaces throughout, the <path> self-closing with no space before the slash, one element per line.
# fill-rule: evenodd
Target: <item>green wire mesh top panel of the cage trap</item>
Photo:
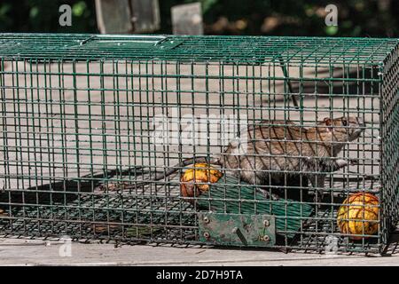
<path fill-rule="evenodd" d="M 381 65 L 397 39 L 273 36 L 2 34 L 12 59 L 156 59 Z"/>

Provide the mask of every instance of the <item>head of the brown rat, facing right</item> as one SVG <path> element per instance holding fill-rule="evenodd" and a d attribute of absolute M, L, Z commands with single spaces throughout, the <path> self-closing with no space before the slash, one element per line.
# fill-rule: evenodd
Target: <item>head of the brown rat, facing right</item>
<path fill-rule="evenodd" d="M 321 122 L 327 133 L 332 134 L 333 140 L 350 142 L 360 137 L 364 131 L 364 120 L 356 116 L 342 116 L 331 119 L 325 117 Z"/>

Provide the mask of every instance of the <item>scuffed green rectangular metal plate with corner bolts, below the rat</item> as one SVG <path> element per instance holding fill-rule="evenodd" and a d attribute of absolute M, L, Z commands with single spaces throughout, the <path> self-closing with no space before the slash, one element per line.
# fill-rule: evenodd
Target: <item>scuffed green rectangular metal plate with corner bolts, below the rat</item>
<path fill-rule="evenodd" d="M 200 241 L 239 247 L 270 247 L 276 243 L 272 215 L 199 212 Z"/>

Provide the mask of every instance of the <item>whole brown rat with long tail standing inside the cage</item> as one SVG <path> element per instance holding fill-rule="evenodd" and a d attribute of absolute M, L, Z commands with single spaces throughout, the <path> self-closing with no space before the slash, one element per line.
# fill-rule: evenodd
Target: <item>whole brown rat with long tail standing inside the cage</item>
<path fill-rule="evenodd" d="M 327 173 L 348 165 L 337 155 L 347 142 L 359 138 L 363 130 L 363 119 L 354 116 L 325 118 L 311 128 L 291 121 L 264 121 L 248 129 L 245 144 L 231 142 L 218 158 L 184 160 L 153 180 L 168 177 L 192 163 L 207 162 L 261 187 L 281 180 L 285 173 L 294 177 L 302 172 L 313 188 L 322 193 Z"/>

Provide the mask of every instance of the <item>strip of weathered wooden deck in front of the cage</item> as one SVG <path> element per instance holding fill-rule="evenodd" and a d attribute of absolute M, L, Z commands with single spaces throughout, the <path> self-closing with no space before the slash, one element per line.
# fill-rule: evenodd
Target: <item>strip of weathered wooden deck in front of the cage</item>
<path fill-rule="evenodd" d="M 72 242 L 68 250 L 59 241 L 3 238 L 0 265 L 399 265 L 398 242 L 399 231 L 392 235 L 384 256 L 364 256 L 99 242 Z"/>

